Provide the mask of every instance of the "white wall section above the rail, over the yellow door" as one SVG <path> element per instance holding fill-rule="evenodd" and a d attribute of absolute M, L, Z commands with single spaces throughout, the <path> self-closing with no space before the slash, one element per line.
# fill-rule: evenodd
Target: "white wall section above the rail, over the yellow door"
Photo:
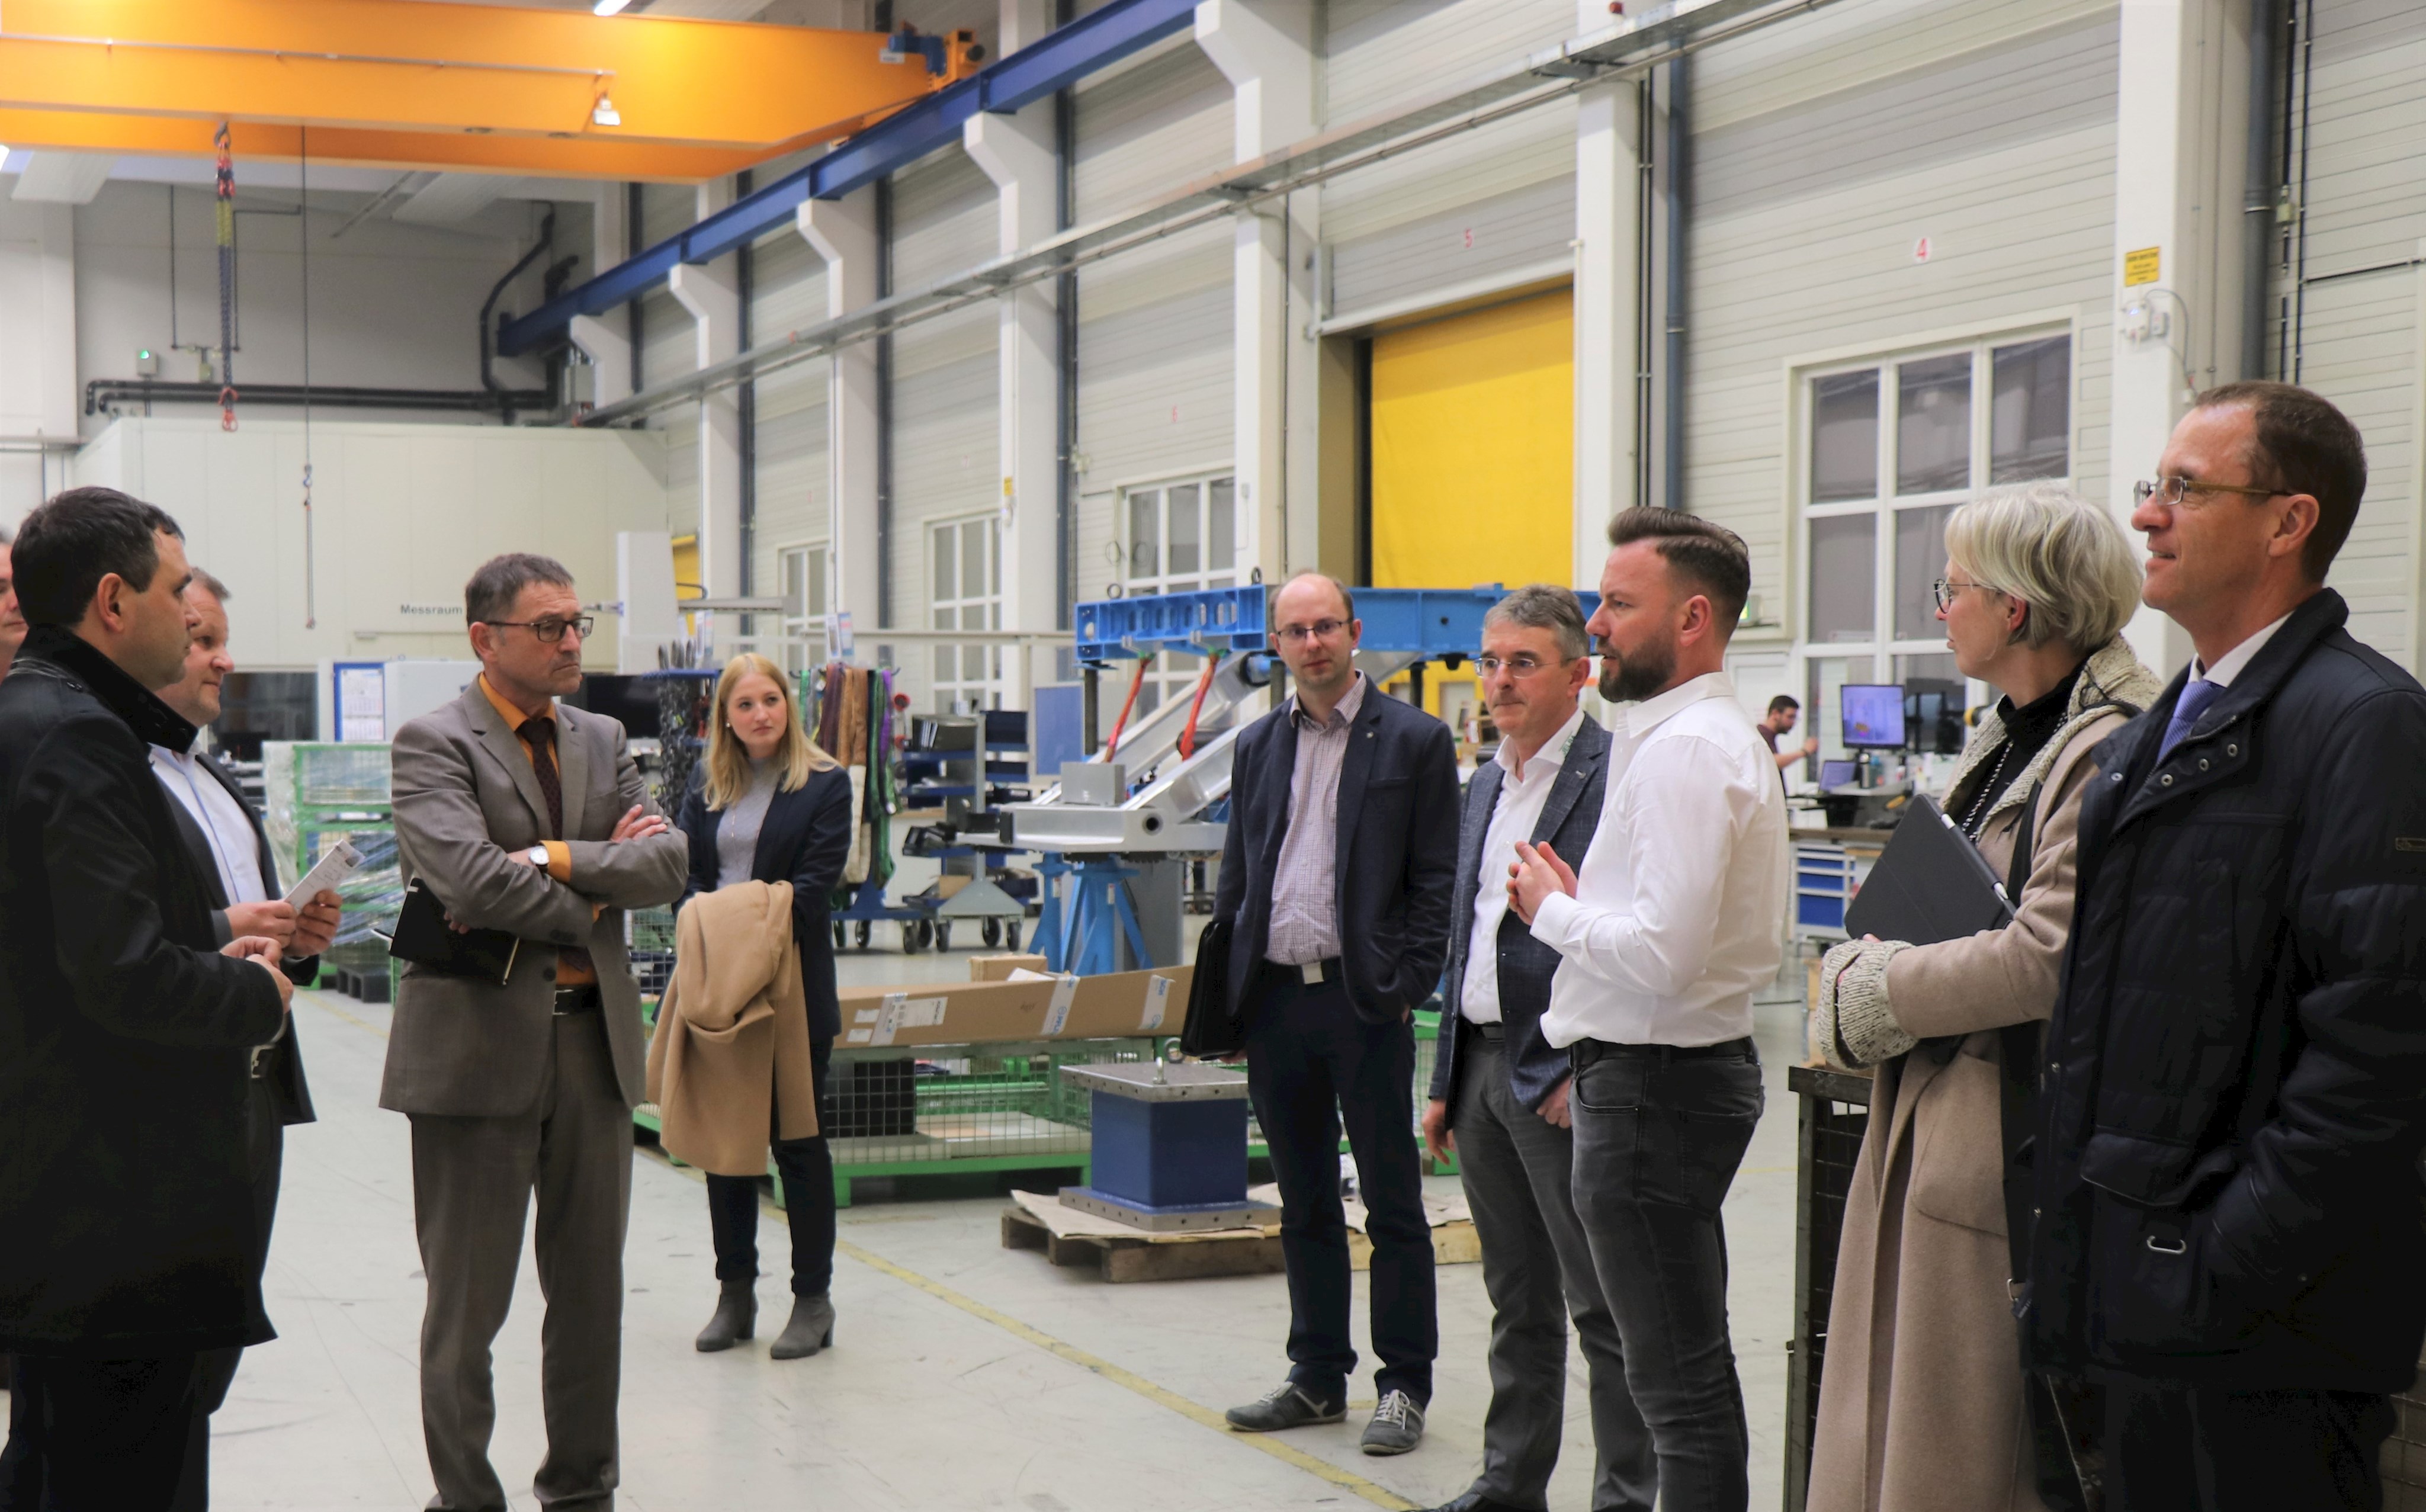
<path fill-rule="evenodd" d="M 1577 34 L 1574 0 L 1332 0 L 1322 15 L 1332 126 L 1499 78 Z"/>

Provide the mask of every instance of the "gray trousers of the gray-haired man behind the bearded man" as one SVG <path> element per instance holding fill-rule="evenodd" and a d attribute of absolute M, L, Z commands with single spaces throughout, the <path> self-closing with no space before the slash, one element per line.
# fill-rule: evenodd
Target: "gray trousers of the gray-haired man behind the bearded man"
<path fill-rule="evenodd" d="M 1468 1031 L 1458 1056 L 1465 1068 L 1451 1129 L 1492 1296 L 1492 1405 L 1473 1488 L 1509 1507 L 1548 1507 L 1567 1432 L 1572 1315 L 1591 1376 L 1591 1507 L 1652 1512 L 1659 1463 L 1625 1388 L 1625 1347 L 1574 1216 L 1574 1136 L 1516 1102 L 1497 1039 Z"/>

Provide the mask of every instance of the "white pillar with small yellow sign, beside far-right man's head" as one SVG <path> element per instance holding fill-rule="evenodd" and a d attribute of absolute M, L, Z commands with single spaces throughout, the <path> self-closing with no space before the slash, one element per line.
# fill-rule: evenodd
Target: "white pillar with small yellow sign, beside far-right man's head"
<path fill-rule="evenodd" d="M 2115 119 L 2113 379 L 2106 498 L 2157 473 L 2191 388 L 2239 352 L 2239 204 L 2246 32 L 2225 0 L 2125 0 Z M 2239 17 L 2242 27 L 2246 17 Z M 2191 658 L 2181 626 L 2140 609 L 2125 629 L 2159 672 Z"/>

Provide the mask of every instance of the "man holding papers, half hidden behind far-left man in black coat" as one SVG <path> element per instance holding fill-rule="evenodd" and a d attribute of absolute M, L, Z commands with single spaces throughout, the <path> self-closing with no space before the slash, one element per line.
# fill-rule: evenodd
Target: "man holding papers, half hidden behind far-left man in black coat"
<path fill-rule="evenodd" d="M 211 573 L 194 568 L 194 582 L 184 590 L 199 621 L 194 643 L 184 653 L 184 670 L 177 682 L 160 689 L 160 701 L 177 711 L 194 728 L 218 723 L 221 692 L 235 658 L 228 655 L 228 585 Z M 170 815 L 184 847 L 194 857 L 194 871 L 211 896 L 211 925 L 218 939 L 260 934 L 277 939 L 284 956 L 279 971 L 298 988 L 308 988 L 320 976 L 320 951 L 337 934 L 340 898 L 318 893 L 303 908 L 284 900 L 279 888 L 277 857 L 269 852 L 269 835 L 262 815 L 245 801 L 243 789 L 228 777 L 211 752 L 150 748 L 153 777 L 170 796 Z M 303 1051 L 296 1046 L 294 1024 L 252 1048 L 245 1065 L 245 1138 L 252 1163 L 252 1216 L 257 1221 L 260 1250 L 255 1274 L 269 1262 L 269 1226 L 279 1211 L 279 1170 L 286 1155 L 286 1126 L 311 1124 L 311 1087 L 303 1082 Z M 211 1505 L 211 1422 L 228 1400 L 235 1383 L 235 1366 L 243 1349 L 206 1349 L 201 1354 L 201 1396 L 194 1417 L 194 1439 L 187 1446 L 184 1483 L 177 1490 L 177 1512 L 201 1512 Z"/>

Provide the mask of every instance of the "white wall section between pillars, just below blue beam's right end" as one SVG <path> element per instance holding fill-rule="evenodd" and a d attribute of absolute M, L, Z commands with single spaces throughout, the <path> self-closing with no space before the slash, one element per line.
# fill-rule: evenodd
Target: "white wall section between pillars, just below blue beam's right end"
<path fill-rule="evenodd" d="M 1194 39 L 1097 75 L 1075 100 L 1080 226 L 1230 165 L 1230 80 Z"/>

